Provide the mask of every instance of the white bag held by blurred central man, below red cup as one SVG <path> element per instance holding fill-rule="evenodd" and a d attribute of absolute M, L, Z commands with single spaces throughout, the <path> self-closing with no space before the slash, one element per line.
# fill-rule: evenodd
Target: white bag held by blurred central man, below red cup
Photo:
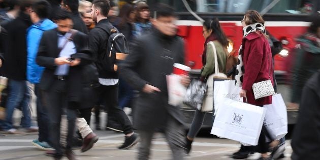
<path fill-rule="evenodd" d="M 167 86 L 169 95 L 168 103 L 172 106 L 181 105 L 187 90 L 187 88 L 181 84 L 181 76 L 175 74 L 167 75 Z"/>

